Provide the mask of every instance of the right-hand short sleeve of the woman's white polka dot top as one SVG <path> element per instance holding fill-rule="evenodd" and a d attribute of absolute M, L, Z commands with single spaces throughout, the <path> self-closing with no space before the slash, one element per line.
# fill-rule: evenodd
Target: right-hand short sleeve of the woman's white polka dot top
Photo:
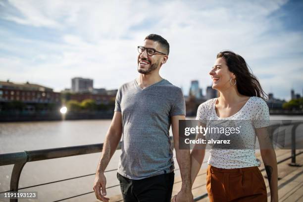
<path fill-rule="evenodd" d="M 269 109 L 263 99 L 258 99 L 254 105 L 254 119 L 253 126 L 255 128 L 263 128 L 270 125 Z"/>

